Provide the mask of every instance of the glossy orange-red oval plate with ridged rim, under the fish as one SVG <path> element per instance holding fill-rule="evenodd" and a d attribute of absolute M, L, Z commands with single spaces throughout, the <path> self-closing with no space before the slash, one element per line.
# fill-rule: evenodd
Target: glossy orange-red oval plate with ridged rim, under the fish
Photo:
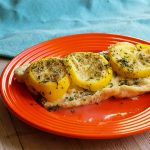
<path fill-rule="evenodd" d="M 63 57 L 75 51 L 100 52 L 116 42 L 146 43 L 122 35 L 89 33 L 65 36 L 37 44 L 16 56 L 1 76 L 1 94 L 8 108 L 21 120 L 58 135 L 107 139 L 150 129 L 150 93 L 137 99 L 110 99 L 100 104 L 48 112 L 13 77 L 14 69 L 43 57 Z"/>

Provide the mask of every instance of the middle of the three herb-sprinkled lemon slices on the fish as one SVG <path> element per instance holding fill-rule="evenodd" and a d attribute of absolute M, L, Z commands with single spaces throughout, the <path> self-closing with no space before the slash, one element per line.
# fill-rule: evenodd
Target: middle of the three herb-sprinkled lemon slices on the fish
<path fill-rule="evenodd" d="M 98 53 L 76 52 L 64 58 L 72 81 L 84 89 L 96 91 L 105 87 L 112 78 L 108 61 Z"/>

